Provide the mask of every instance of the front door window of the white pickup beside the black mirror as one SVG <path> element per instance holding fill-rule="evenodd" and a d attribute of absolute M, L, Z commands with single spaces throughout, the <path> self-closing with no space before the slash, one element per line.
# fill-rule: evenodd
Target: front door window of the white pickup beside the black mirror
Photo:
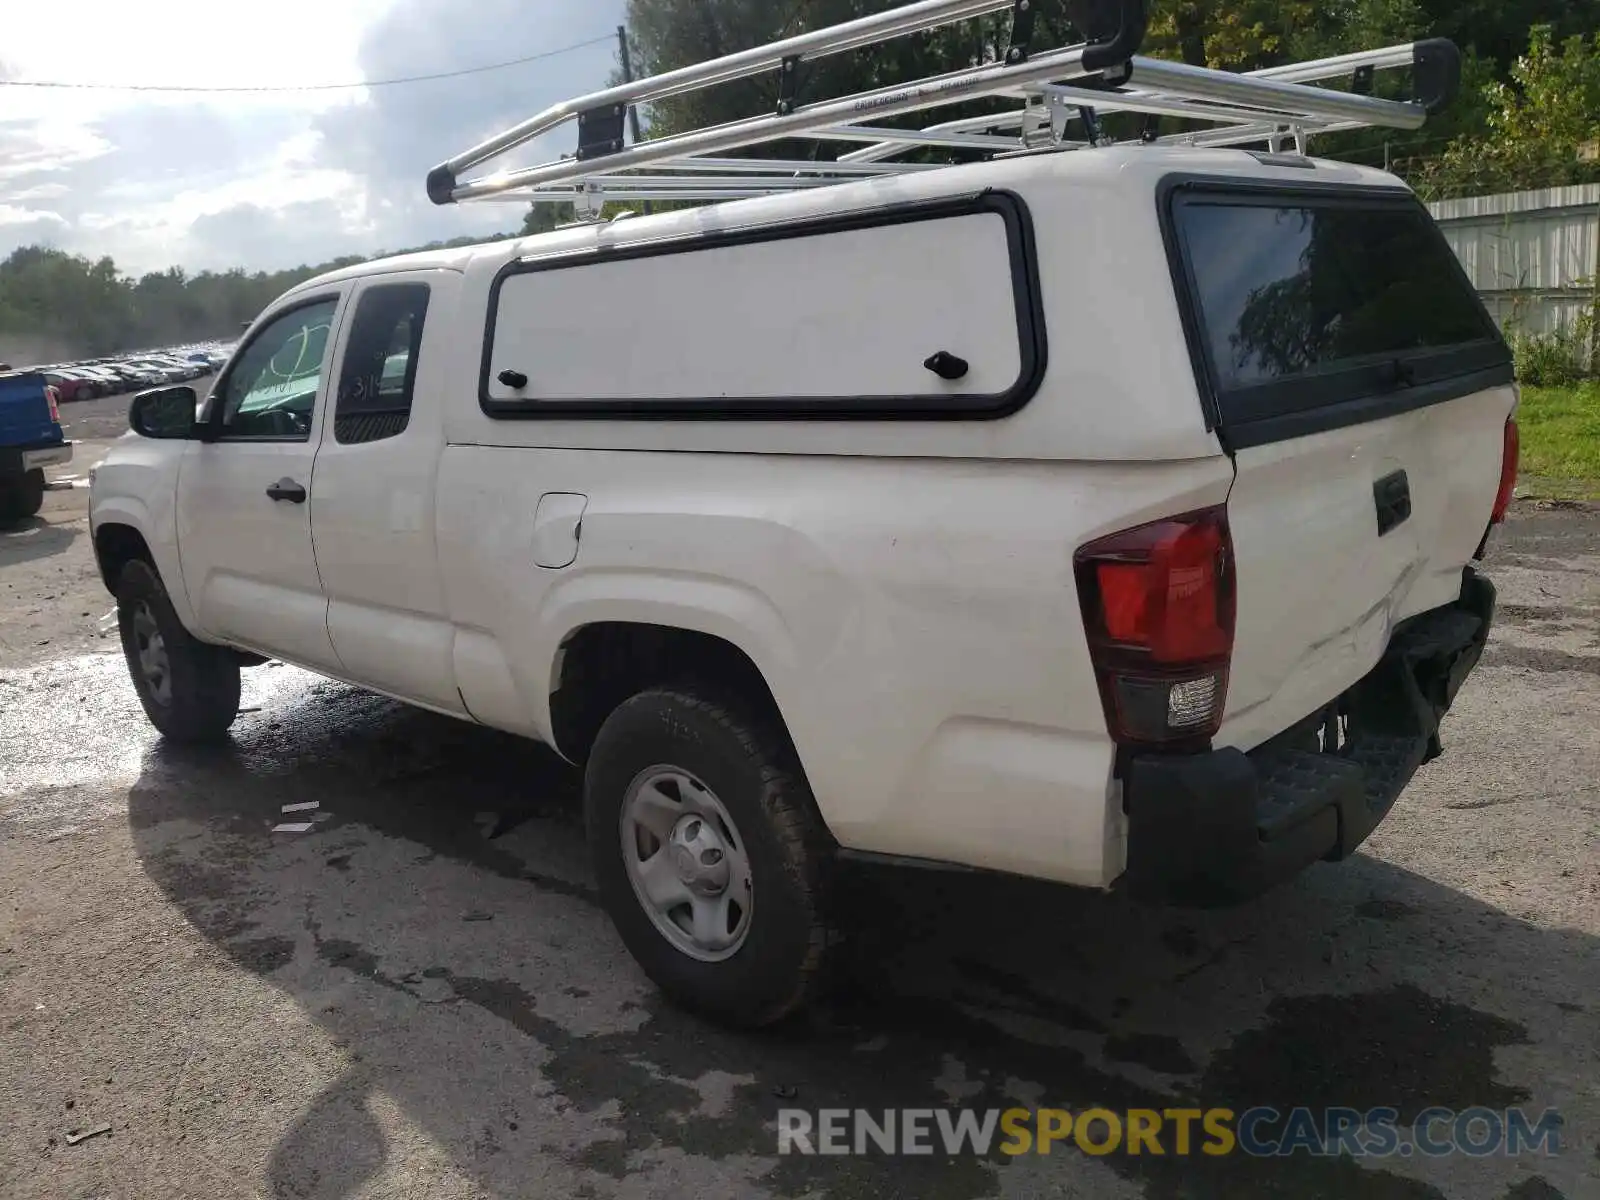
<path fill-rule="evenodd" d="M 219 440 L 309 442 L 333 341 L 336 296 L 302 304 L 267 325 L 222 381 Z"/>

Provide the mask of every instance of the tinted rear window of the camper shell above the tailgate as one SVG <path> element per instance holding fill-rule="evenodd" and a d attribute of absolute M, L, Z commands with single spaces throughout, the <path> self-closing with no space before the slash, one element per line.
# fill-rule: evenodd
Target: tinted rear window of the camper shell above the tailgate
<path fill-rule="evenodd" d="M 1512 379 L 1494 322 L 1410 192 L 1170 181 L 1168 250 L 1230 448 Z"/>

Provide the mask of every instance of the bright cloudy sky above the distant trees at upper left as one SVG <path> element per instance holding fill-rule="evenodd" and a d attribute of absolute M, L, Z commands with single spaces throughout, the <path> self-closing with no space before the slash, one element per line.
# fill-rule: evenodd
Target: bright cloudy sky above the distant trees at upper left
<path fill-rule="evenodd" d="M 32 0 L 6 5 L 0 78 L 285 86 L 477 67 L 605 37 L 622 0 Z M 437 208 L 430 166 L 605 86 L 614 40 L 392 88 L 158 94 L 0 86 L 0 258 L 29 243 L 126 272 L 290 267 L 515 229 L 506 205 Z M 571 144 L 568 144 L 571 142 Z M 576 146 L 525 147 L 526 162 Z"/>

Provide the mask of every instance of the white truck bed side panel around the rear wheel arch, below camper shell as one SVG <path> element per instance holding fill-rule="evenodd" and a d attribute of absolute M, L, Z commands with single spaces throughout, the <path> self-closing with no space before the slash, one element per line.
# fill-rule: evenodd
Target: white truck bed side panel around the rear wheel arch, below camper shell
<path fill-rule="evenodd" d="M 1122 818 L 1072 554 L 1230 482 L 1221 456 L 1128 470 L 448 446 L 438 550 L 475 662 L 462 693 L 504 712 L 510 678 L 522 725 L 549 738 L 550 672 L 578 629 L 712 634 L 765 674 L 843 845 L 1106 885 Z M 563 570 L 536 563 L 546 493 L 587 496 Z"/>

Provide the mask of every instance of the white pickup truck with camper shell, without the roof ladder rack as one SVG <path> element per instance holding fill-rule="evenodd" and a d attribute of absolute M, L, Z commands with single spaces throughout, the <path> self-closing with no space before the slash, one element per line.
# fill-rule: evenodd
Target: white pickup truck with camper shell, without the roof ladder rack
<path fill-rule="evenodd" d="M 91 493 L 133 680 L 536 738 L 669 994 L 810 992 L 840 856 L 1218 904 L 1352 854 L 1477 664 L 1506 342 L 1394 178 L 1101 147 L 350 267 Z"/>

